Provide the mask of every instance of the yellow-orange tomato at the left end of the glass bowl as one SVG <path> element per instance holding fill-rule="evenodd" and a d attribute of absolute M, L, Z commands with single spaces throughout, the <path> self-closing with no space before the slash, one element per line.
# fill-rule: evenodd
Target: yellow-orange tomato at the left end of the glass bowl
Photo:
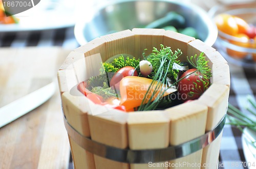
<path fill-rule="evenodd" d="M 228 35 L 236 35 L 238 33 L 238 25 L 232 15 L 219 14 L 215 18 L 218 29 Z"/>

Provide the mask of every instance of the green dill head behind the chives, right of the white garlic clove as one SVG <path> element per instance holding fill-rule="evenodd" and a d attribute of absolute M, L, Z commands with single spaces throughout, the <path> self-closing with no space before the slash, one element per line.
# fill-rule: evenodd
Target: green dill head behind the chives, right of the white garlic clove
<path fill-rule="evenodd" d="M 157 78 L 166 80 L 166 78 L 163 77 L 164 74 L 161 74 L 160 76 L 159 74 L 157 74 L 158 69 L 163 69 L 163 71 L 167 73 L 166 76 L 170 80 L 176 81 L 179 70 L 173 69 L 173 64 L 180 63 L 180 61 L 178 61 L 177 59 L 182 54 L 182 52 L 180 49 L 177 49 L 177 51 L 173 52 L 170 47 L 164 47 L 162 44 L 160 46 L 160 50 L 158 50 L 156 47 L 153 47 L 152 53 L 147 58 L 144 56 L 145 52 L 143 53 L 143 57 L 146 58 L 146 60 L 150 62 L 153 67 L 153 71 L 148 77 L 154 79 L 155 76 L 157 76 Z M 163 58 L 164 63 L 162 63 Z"/>

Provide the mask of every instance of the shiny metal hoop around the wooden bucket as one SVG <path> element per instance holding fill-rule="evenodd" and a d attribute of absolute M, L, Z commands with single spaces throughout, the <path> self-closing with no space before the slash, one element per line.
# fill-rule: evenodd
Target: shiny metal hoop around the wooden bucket
<path fill-rule="evenodd" d="M 224 116 L 213 130 L 178 146 L 169 146 L 162 149 L 130 150 L 111 147 L 95 142 L 91 138 L 78 133 L 64 117 L 65 127 L 69 136 L 80 147 L 95 155 L 124 163 L 162 162 L 187 156 L 203 149 L 213 142 L 223 130 L 225 120 L 226 117 Z"/>

